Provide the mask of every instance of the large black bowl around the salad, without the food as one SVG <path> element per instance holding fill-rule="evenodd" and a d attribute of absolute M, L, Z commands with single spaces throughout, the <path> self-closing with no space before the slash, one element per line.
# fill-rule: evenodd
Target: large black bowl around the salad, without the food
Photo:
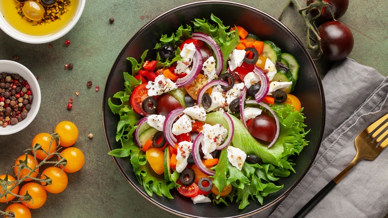
<path fill-rule="evenodd" d="M 135 57 L 140 59 L 144 50 L 153 50 L 155 43 L 159 41 L 162 34 L 170 35 L 181 24 L 191 24 L 194 18 L 209 19 L 211 13 L 220 18 L 225 25 L 241 25 L 248 32 L 257 34 L 263 40 L 274 41 L 282 49 L 282 52 L 289 52 L 298 59 L 300 72 L 294 94 L 300 99 L 304 107 L 305 124 L 311 130 L 306 136 L 309 145 L 302 150 L 299 156 L 292 157 L 296 173 L 291 173 L 287 178 L 281 178 L 278 184 L 284 184 L 284 188 L 265 197 L 263 205 L 260 205 L 257 201 L 251 201 L 251 204 L 244 210 L 239 210 L 239 203 L 236 202 L 229 204 L 229 207 L 211 203 L 194 205 L 190 198 L 183 197 L 176 191 L 172 191 L 173 200 L 156 195 L 150 197 L 136 180 L 129 158 L 113 158 L 113 160 L 124 177 L 141 195 L 169 212 L 189 217 L 241 217 L 261 212 L 281 201 L 290 193 L 311 166 L 318 151 L 324 127 L 325 103 L 323 89 L 313 60 L 291 30 L 274 17 L 241 3 L 201 1 L 176 7 L 151 20 L 129 40 L 110 71 L 105 85 L 102 106 L 104 132 L 109 150 L 121 147 L 121 144 L 115 141 L 119 117 L 113 115 L 110 111 L 107 100 L 116 92 L 124 90 L 122 73 L 131 72 L 130 63 L 126 58 Z M 154 57 L 150 56 L 148 58 Z"/>

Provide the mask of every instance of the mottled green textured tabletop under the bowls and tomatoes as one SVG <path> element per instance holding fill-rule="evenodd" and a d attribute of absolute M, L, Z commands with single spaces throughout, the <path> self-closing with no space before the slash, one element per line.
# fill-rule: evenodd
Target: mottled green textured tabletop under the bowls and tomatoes
<path fill-rule="evenodd" d="M 0 59 L 12 60 L 29 68 L 42 91 L 42 104 L 35 120 L 19 133 L 0 136 L 0 174 L 12 172 L 14 159 L 30 146 L 34 135 L 52 132 L 62 120 L 71 120 L 80 130 L 76 147 L 85 152 L 84 168 L 68 174 L 69 185 L 60 194 L 48 194 L 46 204 L 32 210 L 34 218 L 46 217 L 171 217 L 172 214 L 149 203 L 138 194 L 121 175 L 112 158 L 102 129 L 102 96 L 110 68 L 127 41 L 157 15 L 193 0 L 87 0 L 78 24 L 64 37 L 45 44 L 26 44 L 0 31 Z M 245 3 L 277 17 L 287 0 L 242 0 Z M 300 4 L 304 4 L 300 0 Z M 384 5 L 384 4 L 383 4 Z M 387 7 L 376 7 L 364 0 L 352 0 L 347 13 L 340 18 L 351 27 L 355 46 L 350 57 L 361 64 L 376 68 L 387 76 L 388 56 Z M 109 18 L 114 17 L 113 24 Z M 293 9 L 289 8 L 282 20 L 302 41 L 304 25 Z M 69 47 L 65 40 L 71 40 Z M 73 70 L 64 65 L 74 63 Z M 322 76 L 330 63 L 316 62 Z M 92 81 L 93 87 L 87 88 Z M 96 92 L 95 86 L 100 90 Z M 80 92 L 76 96 L 76 92 Z M 66 105 L 74 98 L 74 107 Z M 1 131 L 1 129 L 0 129 Z M 89 139 L 88 134 L 94 138 Z M 0 204 L 5 210 L 5 204 Z"/>

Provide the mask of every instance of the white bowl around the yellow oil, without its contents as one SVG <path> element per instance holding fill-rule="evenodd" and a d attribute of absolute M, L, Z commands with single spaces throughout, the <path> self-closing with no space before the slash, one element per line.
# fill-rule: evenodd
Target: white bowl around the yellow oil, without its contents
<path fill-rule="evenodd" d="M 31 44 L 42 44 L 42 43 L 52 42 L 66 35 L 76 25 L 76 23 L 81 17 L 82 12 L 84 11 L 85 2 L 86 0 L 79 0 L 78 6 L 75 8 L 77 11 L 75 13 L 75 16 L 72 18 L 71 22 L 69 22 L 63 29 L 60 29 L 59 31 L 53 34 L 36 36 L 36 35 L 28 35 L 28 34 L 22 33 L 16 30 L 14 27 L 12 27 L 5 20 L 1 11 L 0 11 L 0 29 L 2 29 L 2 31 L 4 31 L 10 37 L 16 40 L 19 40 L 21 42 L 26 42 Z"/>

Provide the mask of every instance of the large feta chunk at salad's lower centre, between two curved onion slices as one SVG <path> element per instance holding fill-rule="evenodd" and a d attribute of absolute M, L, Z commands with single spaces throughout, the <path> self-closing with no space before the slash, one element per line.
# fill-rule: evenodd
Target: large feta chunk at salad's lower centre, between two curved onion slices
<path fill-rule="evenodd" d="M 228 130 L 220 124 L 210 125 L 205 123 L 201 131 L 203 133 L 202 152 L 205 159 L 213 159 L 211 152 L 215 151 L 226 138 Z"/>

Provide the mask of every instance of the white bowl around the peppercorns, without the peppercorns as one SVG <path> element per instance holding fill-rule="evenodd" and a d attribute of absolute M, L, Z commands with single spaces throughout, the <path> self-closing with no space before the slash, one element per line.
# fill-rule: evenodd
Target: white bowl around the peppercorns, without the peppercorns
<path fill-rule="evenodd" d="M 0 73 L 2 72 L 8 74 L 14 73 L 23 77 L 24 80 L 26 80 L 30 85 L 30 90 L 33 95 L 31 109 L 28 111 L 27 117 L 25 119 L 19 121 L 15 125 L 8 124 L 6 127 L 0 126 L 0 135 L 9 135 L 24 129 L 32 122 L 32 120 L 34 120 L 40 108 L 41 95 L 38 81 L 36 80 L 32 72 L 28 70 L 24 65 L 21 65 L 14 61 L 0 60 Z"/>

